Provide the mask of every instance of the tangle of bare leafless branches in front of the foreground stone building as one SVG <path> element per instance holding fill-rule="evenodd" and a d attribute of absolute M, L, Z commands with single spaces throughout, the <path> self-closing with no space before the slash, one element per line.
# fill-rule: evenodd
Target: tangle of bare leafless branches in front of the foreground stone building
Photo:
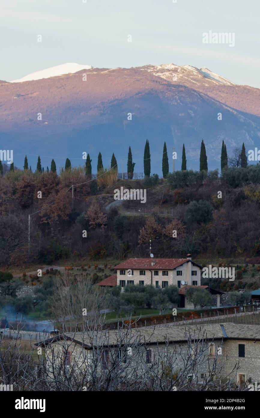
<path fill-rule="evenodd" d="M 133 324 L 132 324 L 133 325 Z M 186 342 L 153 344 L 154 329 L 135 329 L 124 321 L 116 330 L 104 323 L 88 324 L 81 333 L 62 334 L 46 339 L 25 354 L 19 333 L 12 340 L 0 336 L 0 384 L 13 384 L 14 390 L 52 391 L 171 391 L 171 390 L 245 390 L 235 382 L 239 364 L 227 375 L 227 358 L 211 356 L 203 328 L 185 332 Z M 144 332 L 144 331 L 143 331 Z M 73 339 L 79 341 L 78 344 Z M 222 343 L 220 342 L 220 346 Z M 3 349 L 4 348 L 4 349 Z M 33 357 L 37 350 L 38 358 Z M 147 361 L 148 352 L 148 361 Z M 105 353 L 105 354 L 104 354 Z M 203 379 L 201 370 L 207 370 Z"/>

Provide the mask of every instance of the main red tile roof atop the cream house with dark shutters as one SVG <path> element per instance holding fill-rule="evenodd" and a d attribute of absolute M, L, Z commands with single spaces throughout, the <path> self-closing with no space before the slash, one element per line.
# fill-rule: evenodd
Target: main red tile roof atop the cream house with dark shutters
<path fill-rule="evenodd" d="M 155 265 L 151 265 L 152 262 Z M 187 258 L 129 258 L 123 263 L 116 265 L 114 268 L 123 269 L 149 269 L 149 270 L 173 270 L 188 261 Z"/>

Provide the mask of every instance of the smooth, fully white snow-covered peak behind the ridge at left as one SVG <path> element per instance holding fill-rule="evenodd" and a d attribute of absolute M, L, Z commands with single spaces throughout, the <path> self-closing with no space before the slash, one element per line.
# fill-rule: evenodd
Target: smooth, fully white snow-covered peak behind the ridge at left
<path fill-rule="evenodd" d="M 66 64 L 56 65 L 55 67 L 46 68 L 45 70 L 36 71 L 35 73 L 28 74 L 20 79 L 13 80 L 11 83 L 21 83 L 24 81 L 40 80 L 43 78 L 61 76 L 68 73 L 76 73 L 83 69 L 93 68 L 91 65 L 76 64 L 75 62 L 67 62 Z"/>

